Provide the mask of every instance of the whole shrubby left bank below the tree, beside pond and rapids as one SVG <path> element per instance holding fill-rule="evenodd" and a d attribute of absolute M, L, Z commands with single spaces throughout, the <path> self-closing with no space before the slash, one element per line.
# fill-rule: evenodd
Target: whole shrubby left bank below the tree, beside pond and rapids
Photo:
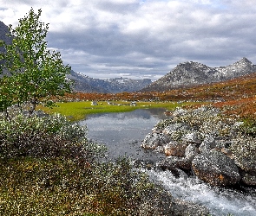
<path fill-rule="evenodd" d="M 86 127 L 60 115 L 18 114 L 1 118 L 0 131 L 0 215 L 170 211 L 171 196 L 128 158 L 105 157 L 104 146 L 88 141 Z"/>

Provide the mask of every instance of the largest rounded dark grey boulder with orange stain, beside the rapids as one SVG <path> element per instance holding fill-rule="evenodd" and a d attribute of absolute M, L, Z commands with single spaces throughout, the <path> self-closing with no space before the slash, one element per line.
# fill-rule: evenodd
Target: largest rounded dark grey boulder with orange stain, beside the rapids
<path fill-rule="evenodd" d="M 192 167 L 200 180 L 213 186 L 234 185 L 241 178 L 233 160 L 214 149 L 195 156 Z"/>

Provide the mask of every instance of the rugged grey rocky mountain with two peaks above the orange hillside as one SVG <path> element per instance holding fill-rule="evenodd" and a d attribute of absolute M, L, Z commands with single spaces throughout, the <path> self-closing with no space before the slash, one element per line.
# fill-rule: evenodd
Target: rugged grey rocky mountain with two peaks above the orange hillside
<path fill-rule="evenodd" d="M 220 82 L 256 72 L 256 66 L 245 57 L 226 67 L 208 67 L 187 61 L 180 63 L 165 76 L 142 89 L 142 92 L 167 91 L 187 86 Z"/>

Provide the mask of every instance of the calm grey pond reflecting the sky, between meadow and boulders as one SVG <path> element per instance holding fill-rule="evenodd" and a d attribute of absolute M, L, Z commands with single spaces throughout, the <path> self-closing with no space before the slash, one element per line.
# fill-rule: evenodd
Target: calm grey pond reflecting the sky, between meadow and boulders
<path fill-rule="evenodd" d="M 129 112 L 89 115 L 80 124 L 87 124 L 88 137 L 104 143 L 111 157 L 129 156 L 133 159 L 163 157 L 153 151 L 141 149 L 141 141 L 164 116 L 164 109 L 143 109 Z"/>

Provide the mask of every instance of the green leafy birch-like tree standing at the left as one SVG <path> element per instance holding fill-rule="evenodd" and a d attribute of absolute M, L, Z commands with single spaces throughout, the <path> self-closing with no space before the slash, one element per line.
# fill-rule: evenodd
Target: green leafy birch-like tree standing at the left
<path fill-rule="evenodd" d="M 62 63 L 59 52 L 50 52 L 47 48 L 46 35 L 49 24 L 40 22 L 42 10 L 36 14 L 31 8 L 29 14 L 19 19 L 15 29 L 10 26 L 11 44 L 4 43 L 5 52 L 1 69 L 9 74 L 2 75 L 0 86 L 3 109 L 8 105 L 29 102 L 30 113 L 35 111 L 40 102 L 43 105 L 53 105 L 52 97 L 63 96 L 70 92 L 70 82 L 66 75 L 70 72 L 69 66 Z M 6 88 L 8 99 L 6 98 Z M 11 101 L 11 103 L 10 103 Z"/>

